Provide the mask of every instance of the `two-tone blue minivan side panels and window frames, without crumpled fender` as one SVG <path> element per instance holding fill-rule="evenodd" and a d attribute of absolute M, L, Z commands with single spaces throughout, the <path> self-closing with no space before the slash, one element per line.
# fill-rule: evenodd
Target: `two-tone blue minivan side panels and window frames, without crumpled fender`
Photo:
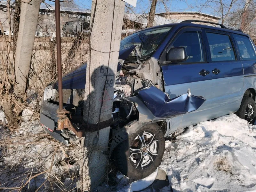
<path fill-rule="evenodd" d="M 244 92 L 247 89 L 256 89 L 256 60 L 241 59 L 237 44 L 232 38 L 233 33 L 249 38 L 248 35 L 239 31 L 218 28 L 218 32 L 229 35 L 232 39 L 236 60 L 211 61 L 205 31 L 217 31 L 216 28 L 196 24 L 190 26 L 186 23 L 186 27 L 188 26 L 191 29 L 200 28 L 202 31 L 206 53 L 205 62 L 162 65 L 164 90 L 170 95 L 170 98 L 175 98 L 190 88 L 192 94 L 203 96 L 206 101 L 196 111 L 167 120 L 169 127 L 167 127 L 166 135 L 202 121 L 236 112 L 240 107 Z M 163 47 L 166 47 L 168 42 L 172 44 L 172 39 L 182 31 L 182 27 L 184 27 L 183 24 L 178 24 L 172 29 L 168 39 L 165 39 Z M 254 44 L 253 47 L 255 49 Z M 163 51 L 164 48 L 157 50 L 154 56 L 161 58 Z M 211 73 L 215 68 L 221 71 L 217 75 Z M 208 70 L 210 73 L 201 76 L 199 71 L 202 69 Z"/>

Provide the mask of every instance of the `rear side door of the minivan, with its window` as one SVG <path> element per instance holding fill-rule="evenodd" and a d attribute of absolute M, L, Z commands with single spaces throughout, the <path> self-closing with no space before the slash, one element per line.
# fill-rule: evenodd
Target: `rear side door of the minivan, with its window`
<path fill-rule="evenodd" d="M 212 115 L 215 117 L 236 112 L 244 95 L 244 71 L 237 59 L 236 46 L 230 33 L 203 30 L 212 64 Z"/>

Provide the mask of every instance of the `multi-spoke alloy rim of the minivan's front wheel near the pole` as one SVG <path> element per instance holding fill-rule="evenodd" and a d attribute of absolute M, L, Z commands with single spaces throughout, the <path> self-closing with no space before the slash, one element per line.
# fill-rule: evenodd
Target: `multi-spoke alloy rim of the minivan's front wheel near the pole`
<path fill-rule="evenodd" d="M 156 134 L 151 131 L 143 131 L 137 134 L 129 148 L 129 159 L 136 169 L 146 169 L 154 163 L 158 154 L 158 140 Z"/>

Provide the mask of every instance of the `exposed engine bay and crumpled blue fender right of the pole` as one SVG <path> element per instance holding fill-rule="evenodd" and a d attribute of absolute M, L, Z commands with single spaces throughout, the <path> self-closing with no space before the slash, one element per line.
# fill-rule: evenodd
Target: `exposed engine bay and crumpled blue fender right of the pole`
<path fill-rule="evenodd" d="M 165 121 L 173 116 L 195 111 L 204 103 L 205 99 L 191 95 L 190 89 L 187 94 L 170 99 L 163 92 L 163 78 L 158 61 L 151 57 L 141 62 L 138 48 L 135 47 L 134 50 L 136 62 L 129 62 L 129 58 L 119 59 L 122 69 L 116 76 L 112 113 L 114 127 L 120 126 L 120 121 Z"/>

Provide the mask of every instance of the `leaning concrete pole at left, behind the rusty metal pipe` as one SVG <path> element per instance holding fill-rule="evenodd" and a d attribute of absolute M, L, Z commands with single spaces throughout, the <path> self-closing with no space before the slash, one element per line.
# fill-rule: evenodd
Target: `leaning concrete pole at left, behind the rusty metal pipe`
<path fill-rule="evenodd" d="M 15 77 L 17 84 L 14 90 L 17 94 L 26 90 L 31 55 L 34 46 L 36 26 L 41 0 L 21 3 L 20 25 L 15 56 Z"/>

